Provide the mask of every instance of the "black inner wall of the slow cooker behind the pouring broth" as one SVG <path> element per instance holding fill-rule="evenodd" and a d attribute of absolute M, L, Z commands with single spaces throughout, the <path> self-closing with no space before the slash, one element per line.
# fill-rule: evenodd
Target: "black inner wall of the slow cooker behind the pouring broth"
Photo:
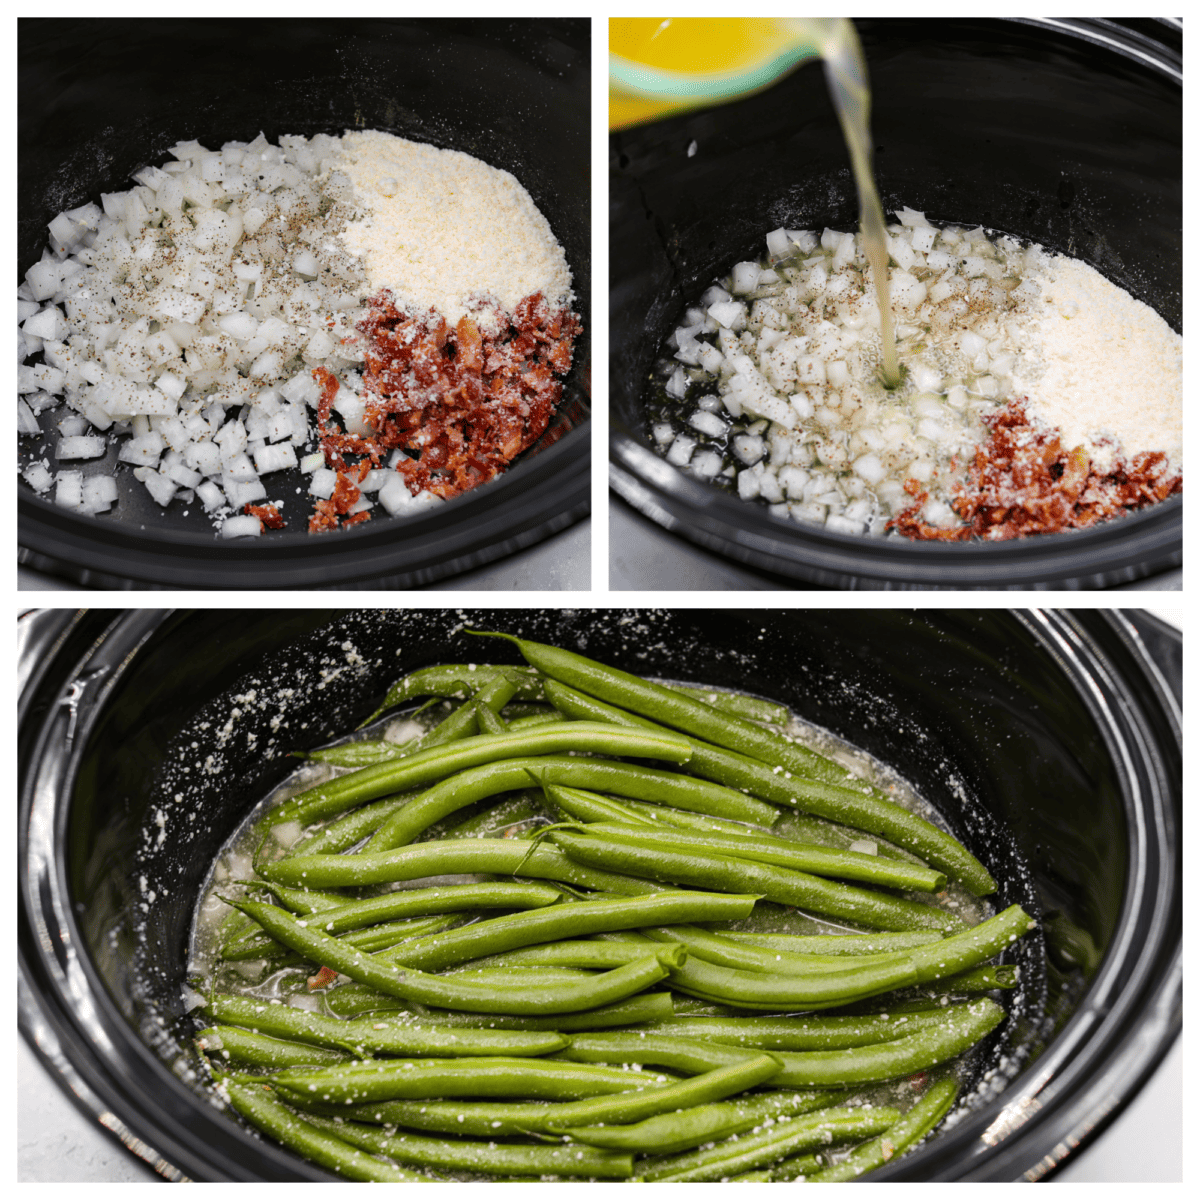
<path fill-rule="evenodd" d="M 888 211 L 984 224 L 1096 266 L 1182 328 L 1182 106 L 1159 74 L 1019 23 L 857 23 Z M 689 145 L 696 152 L 689 156 Z M 857 224 L 821 70 L 613 138 L 613 416 L 686 304 L 763 235 Z"/>

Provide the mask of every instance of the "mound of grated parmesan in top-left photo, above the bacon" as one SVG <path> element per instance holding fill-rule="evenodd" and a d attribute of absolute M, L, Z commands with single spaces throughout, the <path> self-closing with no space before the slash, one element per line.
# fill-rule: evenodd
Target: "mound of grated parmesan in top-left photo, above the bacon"
<path fill-rule="evenodd" d="M 473 301 L 511 313 L 540 292 L 551 308 L 570 304 L 563 247 L 506 170 L 377 130 L 343 136 L 340 169 L 360 214 L 342 241 L 401 308 L 456 324 Z"/>

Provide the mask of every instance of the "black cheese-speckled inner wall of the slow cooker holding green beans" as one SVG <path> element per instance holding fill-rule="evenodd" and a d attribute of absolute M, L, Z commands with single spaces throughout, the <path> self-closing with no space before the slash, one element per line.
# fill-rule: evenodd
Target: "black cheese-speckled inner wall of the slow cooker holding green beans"
<path fill-rule="evenodd" d="M 167 619 L 90 738 L 67 830 L 76 911 L 107 990 L 167 1062 L 190 1052 L 187 934 L 218 847 L 290 769 L 288 750 L 356 724 L 398 674 L 520 661 L 506 643 L 463 632 L 472 622 L 631 671 L 761 691 L 912 780 L 1001 882 L 1000 902 L 1057 922 L 1049 995 L 1040 943 L 1022 943 L 1015 1032 L 994 1056 L 1036 1057 L 1040 1014 L 1070 1015 L 1108 944 L 1123 889 L 1120 790 L 1103 748 L 1081 757 L 1094 745 L 1086 707 L 1012 616 L 328 616 Z M 1080 961 L 1073 946 L 1094 954 Z"/>

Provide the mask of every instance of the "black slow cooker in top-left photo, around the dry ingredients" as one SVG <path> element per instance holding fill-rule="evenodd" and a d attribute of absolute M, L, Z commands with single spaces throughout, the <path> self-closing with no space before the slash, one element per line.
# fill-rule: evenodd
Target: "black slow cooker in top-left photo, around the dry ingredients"
<path fill-rule="evenodd" d="M 19 485 L 20 560 L 89 587 L 412 587 L 478 568 L 581 520 L 589 505 L 590 32 L 586 19 L 23 19 L 18 278 L 64 209 L 132 186 L 194 138 L 377 128 L 514 174 L 566 252 L 583 332 L 550 427 L 502 476 L 410 517 L 336 536 L 302 528 L 221 541 L 199 505 L 161 509 L 125 469 L 110 515 Z M 43 414 L 43 428 L 61 412 Z M 23 438 L 41 457 L 46 438 Z M 53 439 L 50 439 L 53 442 Z M 36 443 L 36 449 L 32 444 Z M 112 473 L 109 448 L 101 469 Z M 294 476 L 294 478 L 293 478 Z M 282 492 L 307 491 L 299 472 Z"/>

